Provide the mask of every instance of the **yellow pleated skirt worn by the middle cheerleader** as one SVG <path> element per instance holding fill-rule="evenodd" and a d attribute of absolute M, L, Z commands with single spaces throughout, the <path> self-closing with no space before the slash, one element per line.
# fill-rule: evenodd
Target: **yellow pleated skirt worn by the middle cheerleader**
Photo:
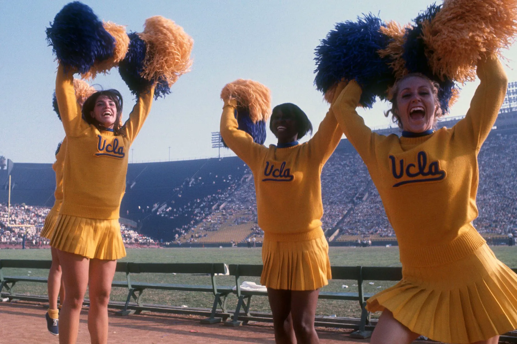
<path fill-rule="evenodd" d="M 308 233 L 265 233 L 261 284 L 284 290 L 316 290 L 332 278 L 321 227 Z"/>

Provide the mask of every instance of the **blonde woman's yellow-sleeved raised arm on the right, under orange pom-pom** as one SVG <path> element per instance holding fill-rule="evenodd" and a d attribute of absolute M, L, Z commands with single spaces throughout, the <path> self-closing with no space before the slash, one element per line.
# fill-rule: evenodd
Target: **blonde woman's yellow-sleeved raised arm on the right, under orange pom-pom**
<path fill-rule="evenodd" d="M 481 82 L 470 101 L 465 118 L 454 126 L 454 135 L 479 150 L 497 119 L 505 99 L 508 78 L 494 55 L 484 61 L 479 60 L 476 72 Z"/>

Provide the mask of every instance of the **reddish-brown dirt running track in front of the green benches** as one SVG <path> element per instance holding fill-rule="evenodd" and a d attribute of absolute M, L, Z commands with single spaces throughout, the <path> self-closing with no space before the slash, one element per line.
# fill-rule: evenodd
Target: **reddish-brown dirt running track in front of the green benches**
<path fill-rule="evenodd" d="M 57 337 L 47 331 L 45 308 L 35 302 L 0 302 L 0 336 L 2 342 L 52 343 Z M 87 310 L 81 313 L 78 344 L 90 342 L 86 327 Z M 160 313 L 144 313 L 119 317 L 110 310 L 109 343 L 265 343 L 274 344 L 273 327 L 269 323 L 253 323 L 239 327 L 222 324 L 202 325 L 198 317 L 176 316 Z M 191 332 L 197 331 L 197 332 Z M 317 329 L 322 344 L 368 343 L 368 340 L 351 339 L 346 330 Z"/>

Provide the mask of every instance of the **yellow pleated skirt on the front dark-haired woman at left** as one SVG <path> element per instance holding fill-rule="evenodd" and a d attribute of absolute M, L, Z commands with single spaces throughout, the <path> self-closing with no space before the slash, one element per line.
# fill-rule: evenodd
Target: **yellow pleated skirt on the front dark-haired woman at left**
<path fill-rule="evenodd" d="M 50 245 L 86 258 L 114 260 L 126 256 L 118 219 L 98 220 L 59 215 Z"/>

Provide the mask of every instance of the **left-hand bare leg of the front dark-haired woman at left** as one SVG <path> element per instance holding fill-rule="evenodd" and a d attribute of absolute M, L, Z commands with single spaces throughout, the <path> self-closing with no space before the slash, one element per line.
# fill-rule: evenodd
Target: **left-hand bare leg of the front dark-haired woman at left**
<path fill-rule="evenodd" d="M 79 331 L 79 315 L 88 286 L 89 259 L 60 250 L 57 253 L 67 293 L 59 320 L 59 344 L 75 344 Z"/>

